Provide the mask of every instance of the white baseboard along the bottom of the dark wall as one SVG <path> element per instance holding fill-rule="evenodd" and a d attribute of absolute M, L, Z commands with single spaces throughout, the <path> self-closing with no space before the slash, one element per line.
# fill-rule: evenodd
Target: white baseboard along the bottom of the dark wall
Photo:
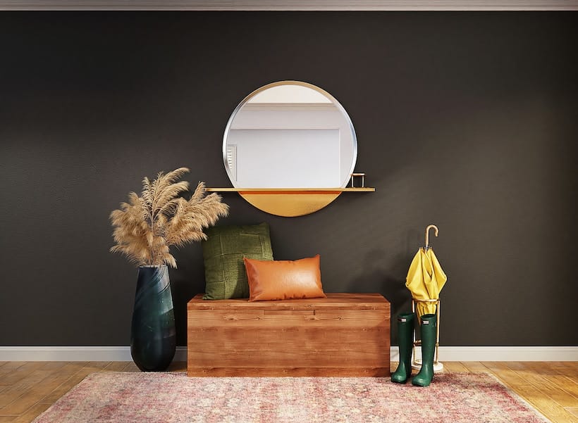
<path fill-rule="evenodd" d="M 421 357 L 419 348 L 417 357 Z M 176 361 L 187 360 L 177 347 Z M 398 361 L 398 347 L 391 347 Z M 444 361 L 578 361 L 578 346 L 440 346 Z M 132 361 L 128 346 L 0 346 L 0 361 Z"/>

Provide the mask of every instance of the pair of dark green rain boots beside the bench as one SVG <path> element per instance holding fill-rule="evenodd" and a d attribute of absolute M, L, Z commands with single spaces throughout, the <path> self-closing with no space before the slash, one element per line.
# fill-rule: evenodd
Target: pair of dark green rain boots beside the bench
<path fill-rule="evenodd" d="M 412 350 L 415 313 L 405 313 L 398 317 L 400 365 L 391 375 L 391 381 L 405 384 L 412 375 Z M 422 369 L 412 378 L 412 385 L 428 386 L 433 379 L 433 355 L 437 341 L 436 315 L 423 315 L 420 319 L 422 333 Z"/>

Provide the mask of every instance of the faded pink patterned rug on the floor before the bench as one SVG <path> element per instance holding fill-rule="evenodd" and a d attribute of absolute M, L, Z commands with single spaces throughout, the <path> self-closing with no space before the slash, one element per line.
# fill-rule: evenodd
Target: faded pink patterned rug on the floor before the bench
<path fill-rule="evenodd" d="M 90 374 L 35 423 L 543 423 L 490 374 L 436 374 L 430 386 L 372 377 Z"/>

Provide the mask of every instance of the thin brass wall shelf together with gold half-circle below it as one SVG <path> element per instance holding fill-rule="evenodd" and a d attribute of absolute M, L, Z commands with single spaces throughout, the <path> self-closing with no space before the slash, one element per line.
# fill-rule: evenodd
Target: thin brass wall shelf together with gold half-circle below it
<path fill-rule="evenodd" d="M 343 192 L 374 192 L 375 188 L 207 188 L 209 192 L 237 192 L 271 215 L 296 217 L 321 210 Z"/>

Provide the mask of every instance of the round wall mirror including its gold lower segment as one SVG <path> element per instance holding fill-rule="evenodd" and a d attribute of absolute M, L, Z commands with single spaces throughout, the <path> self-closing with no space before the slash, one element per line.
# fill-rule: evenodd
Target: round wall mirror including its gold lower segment
<path fill-rule="evenodd" d="M 233 111 L 223 137 L 233 187 L 275 215 L 305 215 L 331 203 L 340 194 L 331 189 L 347 186 L 356 159 L 345 109 L 307 82 L 273 82 L 253 91 Z"/>

